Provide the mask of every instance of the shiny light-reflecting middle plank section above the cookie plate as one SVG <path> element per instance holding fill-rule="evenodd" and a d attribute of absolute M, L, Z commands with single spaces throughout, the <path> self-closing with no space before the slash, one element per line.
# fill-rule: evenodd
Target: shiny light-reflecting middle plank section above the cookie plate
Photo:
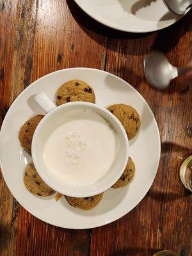
<path fill-rule="evenodd" d="M 107 38 L 79 26 L 66 1 L 40 0 L 38 6 L 31 81 L 62 68 L 104 68 Z"/>

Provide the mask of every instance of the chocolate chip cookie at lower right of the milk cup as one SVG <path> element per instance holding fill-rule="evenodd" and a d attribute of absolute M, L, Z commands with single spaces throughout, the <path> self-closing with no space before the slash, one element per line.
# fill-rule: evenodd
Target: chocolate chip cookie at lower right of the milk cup
<path fill-rule="evenodd" d="M 129 182 L 131 182 L 132 178 L 134 177 L 134 173 L 135 173 L 135 165 L 131 157 L 129 157 L 124 173 L 111 188 L 122 188 L 126 186 Z"/>

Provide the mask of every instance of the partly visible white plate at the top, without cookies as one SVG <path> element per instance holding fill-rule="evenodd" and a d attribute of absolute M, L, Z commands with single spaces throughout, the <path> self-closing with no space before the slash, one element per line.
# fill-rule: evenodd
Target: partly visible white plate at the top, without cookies
<path fill-rule="evenodd" d="M 166 28 L 182 16 L 163 0 L 74 0 L 90 17 L 114 29 L 143 33 Z"/>

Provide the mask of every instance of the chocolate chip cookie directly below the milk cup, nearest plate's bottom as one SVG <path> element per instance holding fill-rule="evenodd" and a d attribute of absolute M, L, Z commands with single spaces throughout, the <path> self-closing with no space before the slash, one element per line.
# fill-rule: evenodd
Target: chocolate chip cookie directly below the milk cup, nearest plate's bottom
<path fill-rule="evenodd" d="M 68 203 L 74 207 L 82 210 L 91 210 L 100 203 L 103 194 L 104 193 L 100 193 L 96 196 L 89 196 L 83 198 L 66 196 L 66 198 Z"/>

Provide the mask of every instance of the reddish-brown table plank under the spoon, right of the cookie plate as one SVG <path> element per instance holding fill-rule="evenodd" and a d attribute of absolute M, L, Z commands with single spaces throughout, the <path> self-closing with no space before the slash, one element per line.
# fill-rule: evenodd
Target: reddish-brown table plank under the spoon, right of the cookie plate
<path fill-rule="evenodd" d="M 124 218 L 93 229 L 91 255 L 153 255 L 173 250 L 190 255 L 190 193 L 179 179 L 179 166 L 191 154 L 192 88 L 175 79 L 166 92 L 150 88 L 143 60 L 150 49 L 167 54 L 173 65 L 191 60 L 191 14 L 170 28 L 132 38 L 109 38 L 106 69 L 131 83 L 145 97 L 159 125 L 162 155 L 157 177 L 147 196 Z"/>

